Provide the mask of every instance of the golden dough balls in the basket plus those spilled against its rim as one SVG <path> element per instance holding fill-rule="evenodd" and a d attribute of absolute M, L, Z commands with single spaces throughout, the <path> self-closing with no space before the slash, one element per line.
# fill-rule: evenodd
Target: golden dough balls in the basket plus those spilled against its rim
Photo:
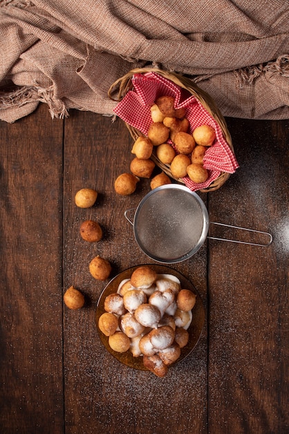
<path fill-rule="evenodd" d="M 136 191 L 140 178 L 151 177 L 156 166 L 151 159 L 153 150 L 158 160 L 169 166 L 174 178 L 188 176 L 196 184 L 205 182 L 209 173 L 203 166 L 203 158 L 216 139 L 214 128 L 204 124 L 189 133 L 185 108 L 175 109 L 173 96 L 156 99 L 151 106 L 151 120 L 147 137 L 140 136 L 133 144 L 131 153 L 135 157 L 130 164 L 131 173 L 118 176 L 115 191 L 127 196 Z M 151 189 L 170 183 L 170 177 L 162 171 L 151 179 Z"/>

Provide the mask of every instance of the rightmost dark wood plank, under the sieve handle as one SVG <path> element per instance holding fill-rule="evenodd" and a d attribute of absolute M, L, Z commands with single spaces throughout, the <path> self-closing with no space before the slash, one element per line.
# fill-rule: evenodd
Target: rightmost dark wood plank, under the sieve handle
<path fill-rule="evenodd" d="M 288 121 L 227 121 L 240 168 L 209 197 L 210 220 L 273 242 L 209 241 L 209 432 L 285 434 Z"/>

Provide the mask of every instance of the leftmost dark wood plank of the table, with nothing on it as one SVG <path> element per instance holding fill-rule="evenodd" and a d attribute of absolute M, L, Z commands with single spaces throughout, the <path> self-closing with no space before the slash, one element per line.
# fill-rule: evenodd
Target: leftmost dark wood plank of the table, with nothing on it
<path fill-rule="evenodd" d="M 61 433 L 62 121 L 0 124 L 1 433 Z"/>

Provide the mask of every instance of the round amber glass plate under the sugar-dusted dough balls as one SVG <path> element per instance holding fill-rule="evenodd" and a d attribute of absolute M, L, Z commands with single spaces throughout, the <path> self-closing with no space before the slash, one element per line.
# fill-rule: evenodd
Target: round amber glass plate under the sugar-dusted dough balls
<path fill-rule="evenodd" d="M 100 340 L 102 341 L 104 347 L 111 353 L 115 358 L 118 359 L 121 363 L 124 363 L 124 365 L 127 365 L 129 367 L 133 367 L 138 370 L 147 371 L 147 368 L 142 363 L 142 356 L 140 357 L 133 357 L 131 354 L 131 351 L 126 351 L 125 353 L 118 353 L 117 351 L 113 351 L 111 347 L 109 346 L 109 338 L 100 331 L 98 327 L 98 320 L 100 318 L 100 315 L 104 313 L 104 300 L 106 299 L 107 295 L 116 293 L 118 290 L 118 286 L 120 282 L 123 279 L 129 279 L 136 268 L 140 266 L 134 266 L 131 268 L 128 268 L 127 270 L 124 270 L 119 275 L 114 277 L 109 284 L 106 285 L 104 290 L 102 291 L 102 294 L 100 295 L 100 298 L 97 302 L 97 309 L 96 309 L 96 326 L 98 334 L 100 335 Z M 198 291 L 194 287 L 194 285 L 186 279 L 183 275 L 180 274 L 180 272 L 169 268 L 167 266 L 161 266 L 161 265 L 151 265 L 149 264 L 149 267 L 153 268 L 158 274 L 171 274 L 180 280 L 180 285 L 184 289 L 192 290 L 193 293 L 196 294 L 196 304 L 194 308 L 192 309 L 192 322 L 189 326 L 189 329 L 187 330 L 189 332 L 189 342 L 187 345 L 181 349 L 180 357 L 178 360 L 174 363 L 180 363 L 185 357 L 187 357 L 196 347 L 196 344 L 198 343 L 198 340 L 201 337 L 201 333 L 203 330 L 203 325 L 205 322 L 205 310 L 203 307 L 203 302 L 201 300 L 200 295 L 198 294 Z"/>

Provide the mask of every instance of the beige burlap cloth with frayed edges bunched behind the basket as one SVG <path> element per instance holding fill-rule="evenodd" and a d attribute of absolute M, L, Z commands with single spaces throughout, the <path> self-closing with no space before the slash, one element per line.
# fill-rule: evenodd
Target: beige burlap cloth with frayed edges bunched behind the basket
<path fill-rule="evenodd" d="M 0 119 L 112 114 L 135 67 L 192 77 L 224 116 L 289 116 L 288 0 L 0 0 Z"/>

